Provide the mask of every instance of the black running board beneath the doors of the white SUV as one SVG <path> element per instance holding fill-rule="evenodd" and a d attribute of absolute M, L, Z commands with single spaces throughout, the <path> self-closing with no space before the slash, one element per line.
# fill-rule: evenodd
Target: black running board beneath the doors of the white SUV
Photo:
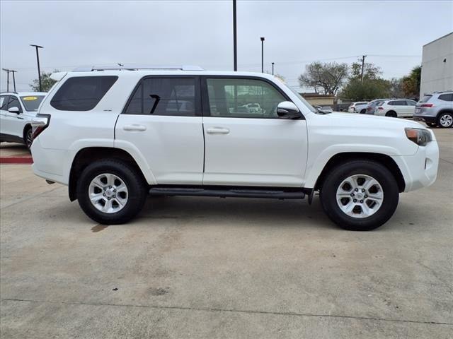
<path fill-rule="evenodd" d="M 219 196 L 221 198 L 275 198 L 303 199 L 302 191 L 277 191 L 268 189 L 188 189 L 173 187 L 152 187 L 151 196 Z"/>

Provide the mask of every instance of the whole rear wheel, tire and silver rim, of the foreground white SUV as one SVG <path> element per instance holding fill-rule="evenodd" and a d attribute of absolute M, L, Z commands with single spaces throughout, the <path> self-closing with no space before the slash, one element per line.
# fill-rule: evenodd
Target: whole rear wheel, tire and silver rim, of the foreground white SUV
<path fill-rule="evenodd" d="M 120 160 L 99 160 L 79 177 L 77 199 L 86 215 L 101 224 L 134 218 L 147 198 L 147 185 L 134 167 Z"/>

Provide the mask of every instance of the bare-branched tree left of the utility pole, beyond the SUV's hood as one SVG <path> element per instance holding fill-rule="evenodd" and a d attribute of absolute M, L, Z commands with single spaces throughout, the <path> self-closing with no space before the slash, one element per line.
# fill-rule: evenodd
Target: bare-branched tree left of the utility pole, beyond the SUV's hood
<path fill-rule="evenodd" d="M 299 76 L 299 83 L 304 87 L 314 88 L 318 93 L 336 95 L 348 76 L 348 64 L 336 62 L 312 62 L 305 66 L 305 72 Z"/>

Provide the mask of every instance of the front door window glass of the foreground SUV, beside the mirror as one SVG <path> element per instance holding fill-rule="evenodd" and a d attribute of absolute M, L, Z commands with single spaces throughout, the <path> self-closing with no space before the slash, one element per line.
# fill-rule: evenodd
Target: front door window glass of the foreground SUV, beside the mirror
<path fill-rule="evenodd" d="M 269 83 L 247 78 L 207 79 L 212 117 L 277 118 L 277 105 L 287 99 Z"/>

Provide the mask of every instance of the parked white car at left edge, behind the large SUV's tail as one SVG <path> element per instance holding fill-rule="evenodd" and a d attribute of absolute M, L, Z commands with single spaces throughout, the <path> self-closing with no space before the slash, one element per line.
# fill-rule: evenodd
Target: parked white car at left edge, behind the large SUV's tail
<path fill-rule="evenodd" d="M 0 141 L 32 143 L 31 121 L 47 93 L 5 92 L 0 94 Z"/>

